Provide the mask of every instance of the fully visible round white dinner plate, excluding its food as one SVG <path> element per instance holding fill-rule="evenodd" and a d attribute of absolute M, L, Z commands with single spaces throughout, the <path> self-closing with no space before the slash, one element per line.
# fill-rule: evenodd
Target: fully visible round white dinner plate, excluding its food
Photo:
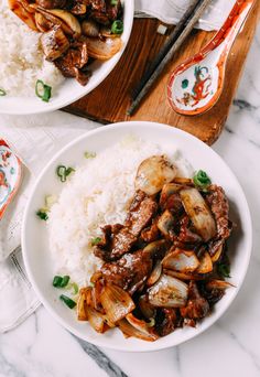
<path fill-rule="evenodd" d="M 126 340 L 118 330 L 98 334 L 88 323 L 78 322 L 74 311 L 61 304 L 58 300 L 61 293 L 52 287 L 55 271 L 50 258 L 46 226 L 35 216 L 45 195 L 50 193 L 58 195 L 63 187 L 55 174 L 57 165 L 78 165 L 83 161 L 86 150 L 98 153 L 120 141 L 127 134 L 141 137 L 143 140 L 155 142 L 162 147 L 171 143 L 173 151 L 180 150 L 195 170 L 206 171 L 214 183 L 224 187 L 230 203 L 230 218 L 237 225 L 229 241 L 230 282 L 236 287 L 227 290 L 224 298 L 215 305 L 213 313 L 197 324 L 196 328 L 178 328 L 153 343 L 137 338 Z M 241 287 L 251 254 L 251 218 L 245 194 L 236 176 L 221 158 L 205 143 L 184 131 L 144 121 L 122 122 L 99 128 L 83 134 L 58 152 L 42 171 L 32 190 L 22 228 L 22 249 L 26 271 L 44 306 L 62 325 L 80 338 L 98 346 L 129 352 L 147 352 L 171 347 L 191 340 L 214 324 L 230 305 Z"/>

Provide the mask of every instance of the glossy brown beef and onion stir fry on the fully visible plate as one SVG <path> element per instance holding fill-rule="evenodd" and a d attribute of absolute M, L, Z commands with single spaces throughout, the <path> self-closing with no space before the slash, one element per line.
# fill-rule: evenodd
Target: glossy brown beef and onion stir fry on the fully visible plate
<path fill-rule="evenodd" d="M 78 320 L 151 342 L 196 326 L 231 287 L 230 231 L 224 190 L 204 172 L 178 177 L 166 157 L 144 160 L 124 224 L 105 226 L 94 246 L 104 265 L 79 292 Z"/>

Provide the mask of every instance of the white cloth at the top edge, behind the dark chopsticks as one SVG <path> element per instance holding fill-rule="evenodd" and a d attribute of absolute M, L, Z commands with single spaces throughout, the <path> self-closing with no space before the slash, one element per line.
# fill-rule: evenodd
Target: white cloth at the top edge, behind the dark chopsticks
<path fill-rule="evenodd" d="M 236 0 L 213 0 L 197 28 L 207 31 L 220 29 L 235 2 Z M 136 0 L 136 11 L 137 17 L 143 17 L 144 13 L 165 23 L 175 24 L 191 0 Z"/>

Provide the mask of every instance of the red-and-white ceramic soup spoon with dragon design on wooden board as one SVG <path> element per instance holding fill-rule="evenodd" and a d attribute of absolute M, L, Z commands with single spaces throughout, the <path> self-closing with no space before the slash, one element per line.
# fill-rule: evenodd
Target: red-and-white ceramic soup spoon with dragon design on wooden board
<path fill-rule="evenodd" d="M 236 1 L 226 22 L 195 56 L 174 69 L 167 86 L 172 108 L 183 115 L 207 111 L 218 100 L 227 57 L 254 0 Z"/>

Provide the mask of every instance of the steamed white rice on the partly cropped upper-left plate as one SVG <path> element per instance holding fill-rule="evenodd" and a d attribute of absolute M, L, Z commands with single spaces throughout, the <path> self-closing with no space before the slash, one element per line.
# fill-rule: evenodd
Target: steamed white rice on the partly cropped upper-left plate
<path fill-rule="evenodd" d="M 63 75 L 46 62 L 40 35 L 30 30 L 0 0 L 0 88 L 10 96 L 35 96 L 35 83 L 42 79 L 53 91 L 64 80 Z"/>

